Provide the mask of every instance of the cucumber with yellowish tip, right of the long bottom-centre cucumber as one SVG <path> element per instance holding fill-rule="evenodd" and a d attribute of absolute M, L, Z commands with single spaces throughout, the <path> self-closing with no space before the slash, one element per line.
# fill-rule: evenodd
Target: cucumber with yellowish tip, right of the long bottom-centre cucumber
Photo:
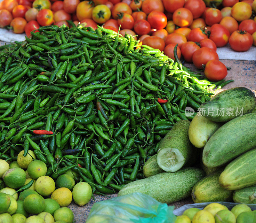
<path fill-rule="evenodd" d="M 232 201 L 233 191 L 226 190 L 219 184 L 222 170 L 211 173 L 196 183 L 191 193 L 195 203 Z"/>

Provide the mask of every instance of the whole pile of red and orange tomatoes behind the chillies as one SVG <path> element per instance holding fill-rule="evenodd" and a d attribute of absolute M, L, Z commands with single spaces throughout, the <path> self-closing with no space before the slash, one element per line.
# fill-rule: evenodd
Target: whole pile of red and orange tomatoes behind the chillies
<path fill-rule="evenodd" d="M 235 51 L 246 51 L 256 45 L 255 12 L 256 0 L 3 0 L 0 27 L 30 35 L 40 26 L 70 26 L 67 20 L 94 29 L 103 25 L 122 35 L 137 35 L 135 39 L 170 58 L 178 44 L 179 58 L 218 80 L 227 69 L 217 47 L 229 43 Z"/>

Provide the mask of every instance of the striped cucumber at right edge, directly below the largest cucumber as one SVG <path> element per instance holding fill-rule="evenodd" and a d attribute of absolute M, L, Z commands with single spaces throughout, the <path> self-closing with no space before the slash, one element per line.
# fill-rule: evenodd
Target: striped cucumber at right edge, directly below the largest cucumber
<path fill-rule="evenodd" d="M 250 150 L 230 162 L 220 174 L 220 186 L 237 190 L 256 184 L 256 149 Z"/>

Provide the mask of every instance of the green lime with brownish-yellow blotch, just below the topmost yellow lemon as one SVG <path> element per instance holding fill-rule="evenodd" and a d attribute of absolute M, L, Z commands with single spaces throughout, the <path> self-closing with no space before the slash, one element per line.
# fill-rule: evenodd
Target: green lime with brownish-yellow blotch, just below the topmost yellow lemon
<path fill-rule="evenodd" d="M 44 176 L 47 172 L 47 167 L 45 163 L 41 160 L 33 160 L 28 164 L 28 174 L 32 179 L 38 179 Z"/>

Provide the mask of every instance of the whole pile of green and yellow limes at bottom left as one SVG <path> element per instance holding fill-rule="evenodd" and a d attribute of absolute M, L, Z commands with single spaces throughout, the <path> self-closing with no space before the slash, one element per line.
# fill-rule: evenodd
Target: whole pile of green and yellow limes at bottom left
<path fill-rule="evenodd" d="M 72 223 L 74 214 L 67 206 L 72 199 L 80 206 L 88 203 L 90 185 L 76 184 L 77 175 L 71 170 L 52 179 L 33 151 L 25 157 L 23 152 L 11 163 L 0 159 L 0 222 Z"/>

